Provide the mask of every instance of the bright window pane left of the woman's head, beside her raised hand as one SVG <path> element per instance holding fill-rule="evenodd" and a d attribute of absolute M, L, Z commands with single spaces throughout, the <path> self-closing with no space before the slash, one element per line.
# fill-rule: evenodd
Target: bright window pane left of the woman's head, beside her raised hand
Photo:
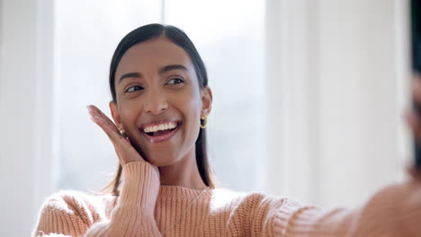
<path fill-rule="evenodd" d="M 83 6 L 83 7 L 82 7 Z M 121 38 L 160 21 L 159 1 L 57 1 L 56 82 L 59 189 L 98 190 L 118 160 L 112 143 L 86 112 L 94 104 L 111 117 L 108 73 Z"/>

